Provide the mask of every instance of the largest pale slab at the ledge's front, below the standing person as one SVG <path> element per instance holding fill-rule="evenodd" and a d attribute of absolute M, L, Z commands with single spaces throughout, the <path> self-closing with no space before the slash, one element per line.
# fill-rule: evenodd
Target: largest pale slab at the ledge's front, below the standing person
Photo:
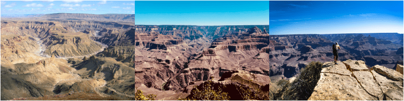
<path fill-rule="evenodd" d="M 354 77 L 333 73 L 321 73 L 320 76 L 308 100 L 377 100 L 362 89 Z"/>

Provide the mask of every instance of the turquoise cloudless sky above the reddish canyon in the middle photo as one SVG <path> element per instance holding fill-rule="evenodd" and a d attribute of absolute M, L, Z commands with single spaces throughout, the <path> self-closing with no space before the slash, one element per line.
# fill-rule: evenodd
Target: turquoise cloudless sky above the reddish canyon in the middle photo
<path fill-rule="evenodd" d="M 268 25 L 269 1 L 136 1 L 139 25 Z"/>

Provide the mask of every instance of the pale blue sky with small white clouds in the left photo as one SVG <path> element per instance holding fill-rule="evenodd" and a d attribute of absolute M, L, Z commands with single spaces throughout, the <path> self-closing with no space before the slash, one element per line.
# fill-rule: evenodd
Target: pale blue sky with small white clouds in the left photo
<path fill-rule="evenodd" d="M 1 1 L 1 14 L 134 14 L 134 1 Z"/>

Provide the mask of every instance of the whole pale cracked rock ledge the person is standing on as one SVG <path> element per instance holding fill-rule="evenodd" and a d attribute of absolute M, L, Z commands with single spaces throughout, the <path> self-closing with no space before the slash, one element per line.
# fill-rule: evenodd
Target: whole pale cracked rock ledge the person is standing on
<path fill-rule="evenodd" d="M 323 64 L 321 77 L 308 100 L 403 100 L 402 75 L 363 61 Z"/>

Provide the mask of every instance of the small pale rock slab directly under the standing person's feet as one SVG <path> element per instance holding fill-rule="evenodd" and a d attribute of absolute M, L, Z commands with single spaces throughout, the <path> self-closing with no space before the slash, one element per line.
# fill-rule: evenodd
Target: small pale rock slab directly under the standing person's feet
<path fill-rule="evenodd" d="M 326 62 L 323 64 L 323 69 L 321 70 L 322 73 L 337 73 L 341 75 L 350 76 L 352 72 L 346 69 L 345 65 L 337 61 L 338 65 L 335 65 L 334 62 Z"/>

